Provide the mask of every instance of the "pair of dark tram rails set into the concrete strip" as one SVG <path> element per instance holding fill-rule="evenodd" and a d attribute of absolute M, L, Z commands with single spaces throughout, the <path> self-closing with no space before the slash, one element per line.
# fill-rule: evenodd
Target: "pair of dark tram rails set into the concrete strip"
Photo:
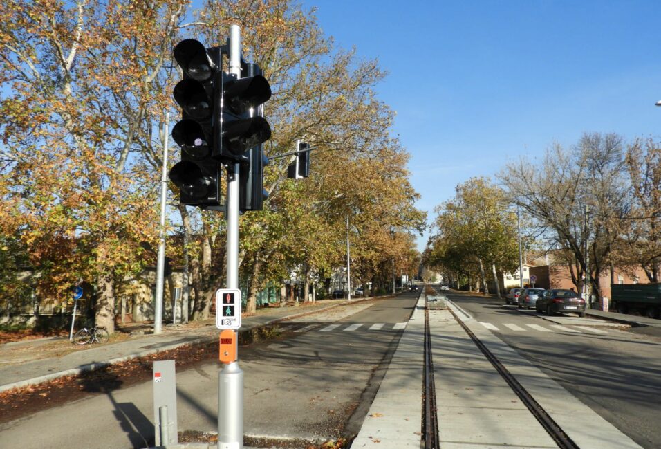
<path fill-rule="evenodd" d="M 539 421 L 541 426 L 546 430 L 549 436 L 555 441 L 561 449 L 579 449 L 579 446 L 568 437 L 562 428 L 552 419 L 550 414 L 535 401 L 532 395 L 525 390 L 523 385 L 516 380 L 508 369 L 500 362 L 500 360 L 481 342 L 481 340 L 467 327 L 456 313 L 448 308 L 454 320 L 462 327 L 462 329 L 471 338 L 472 342 L 480 349 L 482 354 L 489 360 L 491 365 L 496 369 L 501 377 L 510 386 L 514 394 L 519 397 L 525 407 L 530 410 L 532 415 Z M 422 434 L 425 438 L 425 449 L 440 449 L 440 441 L 438 439 L 438 421 L 436 420 L 436 395 L 434 394 L 434 363 L 431 356 L 431 330 L 429 329 L 429 310 L 427 309 L 427 300 L 425 298 L 425 370 L 423 376 L 424 392 L 424 405 L 423 410 L 423 430 Z"/>

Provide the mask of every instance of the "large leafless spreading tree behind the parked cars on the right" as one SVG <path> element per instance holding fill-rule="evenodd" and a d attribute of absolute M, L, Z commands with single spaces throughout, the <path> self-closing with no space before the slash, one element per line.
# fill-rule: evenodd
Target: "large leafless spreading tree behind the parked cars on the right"
<path fill-rule="evenodd" d="M 583 288 L 589 273 L 597 295 L 597 274 L 607 268 L 613 242 L 620 236 L 620 221 L 613 211 L 624 210 L 627 201 L 622 163 L 622 138 L 594 133 L 584 134 L 570 149 L 553 145 L 541 165 L 521 159 L 499 175 L 512 202 L 536 219 L 543 237 L 573 256 L 573 264 L 566 262 L 575 268 L 570 273 L 577 289 Z"/>

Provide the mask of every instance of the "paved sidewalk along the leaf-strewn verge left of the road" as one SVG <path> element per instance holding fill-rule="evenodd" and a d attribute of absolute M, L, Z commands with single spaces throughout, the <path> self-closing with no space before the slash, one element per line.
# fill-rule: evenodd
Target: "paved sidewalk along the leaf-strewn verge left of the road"
<path fill-rule="evenodd" d="M 351 303 L 369 299 L 373 298 L 352 300 Z M 241 332 L 250 331 L 250 329 L 266 326 L 286 318 L 306 315 L 348 303 L 347 300 L 323 300 L 306 306 L 259 309 L 257 315 L 243 318 Z M 210 342 L 218 338 L 215 320 L 206 320 L 202 323 L 202 326 L 199 322 L 190 324 L 190 326 L 183 324 L 177 327 L 164 327 L 164 331 L 159 335 L 130 336 L 119 342 L 78 347 L 73 351 L 71 347 L 66 346 L 68 354 L 63 356 L 39 358 L 37 360 L 32 358 L 32 360 L 25 360 L 11 365 L 3 364 L 2 360 L 12 350 L 20 349 L 29 353 L 31 349 L 37 351 L 39 346 L 57 342 L 57 340 L 65 340 L 66 345 L 73 345 L 73 343 L 66 342 L 68 340 L 66 338 L 41 338 L 5 343 L 0 345 L 0 392 L 16 387 L 36 385 L 62 376 L 80 374 L 81 372 L 99 369 L 113 363 L 148 356 L 183 345 Z M 195 324 L 195 327 L 192 324 Z M 26 358 L 29 359 L 29 354 Z"/>

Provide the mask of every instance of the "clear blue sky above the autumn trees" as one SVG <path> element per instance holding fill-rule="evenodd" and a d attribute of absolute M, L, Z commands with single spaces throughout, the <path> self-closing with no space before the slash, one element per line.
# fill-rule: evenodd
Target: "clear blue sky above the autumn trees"
<path fill-rule="evenodd" d="M 661 2 L 316 0 L 319 26 L 389 72 L 380 98 L 418 208 L 584 132 L 661 135 Z M 418 239 L 422 250 L 427 234 Z"/>

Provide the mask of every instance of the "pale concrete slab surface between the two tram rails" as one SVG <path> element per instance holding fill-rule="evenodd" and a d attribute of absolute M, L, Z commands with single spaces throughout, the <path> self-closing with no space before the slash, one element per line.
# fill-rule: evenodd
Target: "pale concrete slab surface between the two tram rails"
<path fill-rule="evenodd" d="M 449 311 L 429 322 L 443 448 L 557 448 Z"/>

